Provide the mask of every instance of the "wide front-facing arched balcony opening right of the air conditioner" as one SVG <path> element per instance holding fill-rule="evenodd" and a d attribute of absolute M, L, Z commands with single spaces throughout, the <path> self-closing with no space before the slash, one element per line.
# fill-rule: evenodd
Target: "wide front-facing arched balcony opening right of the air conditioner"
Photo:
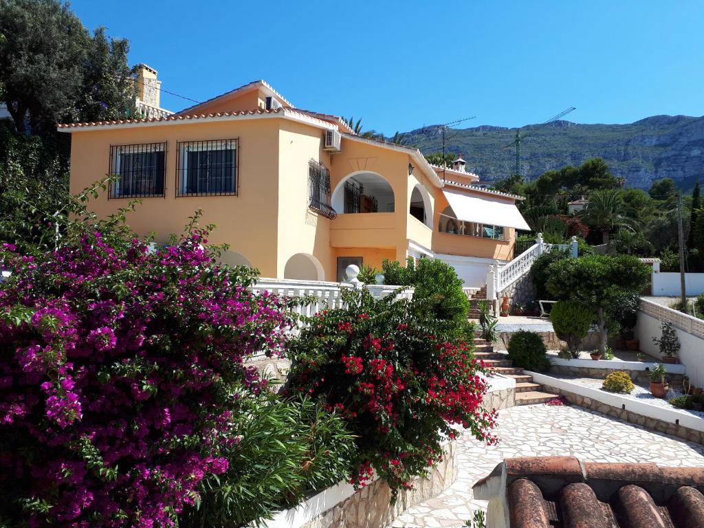
<path fill-rule="evenodd" d="M 332 193 L 332 208 L 338 213 L 393 213 L 394 189 L 376 172 L 353 172 Z"/>

